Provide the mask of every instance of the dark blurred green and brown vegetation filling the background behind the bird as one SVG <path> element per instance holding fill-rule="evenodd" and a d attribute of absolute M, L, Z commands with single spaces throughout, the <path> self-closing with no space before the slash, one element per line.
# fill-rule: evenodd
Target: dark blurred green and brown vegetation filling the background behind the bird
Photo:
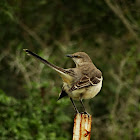
<path fill-rule="evenodd" d="M 0 0 L 0 139 L 71 140 L 61 78 L 24 48 L 64 68 L 74 67 L 65 54 L 88 53 L 104 77 L 84 101 L 91 140 L 140 139 L 139 0 Z"/>

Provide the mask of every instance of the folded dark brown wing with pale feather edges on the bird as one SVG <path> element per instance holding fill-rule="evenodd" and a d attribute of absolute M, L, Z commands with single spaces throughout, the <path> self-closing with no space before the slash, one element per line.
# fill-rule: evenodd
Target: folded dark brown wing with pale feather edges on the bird
<path fill-rule="evenodd" d="M 97 85 L 100 81 L 102 80 L 102 78 L 98 78 L 98 77 L 92 77 L 89 78 L 88 76 L 84 75 L 78 82 L 76 82 L 72 87 L 71 87 L 71 91 L 77 90 L 77 89 L 81 89 L 81 88 L 85 88 L 85 87 L 89 87 L 89 86 L 95 86 Z"/>

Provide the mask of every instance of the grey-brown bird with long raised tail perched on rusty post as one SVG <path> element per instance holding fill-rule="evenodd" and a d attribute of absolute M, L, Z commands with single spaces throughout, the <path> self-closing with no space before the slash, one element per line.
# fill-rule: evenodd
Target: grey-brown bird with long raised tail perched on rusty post
<path fill-rule="evenodd" d="M 102 87 L 102 72 L 96 68 L 92 63 L 92 60 L 85 52 L 77 52 L 74 54 L 68 54 L 67 57 L 73 59 L 76 64 L 75 68 L 63 69 L 54 64 L 51 64 L 47 60 L 41 58 L 37 54 L 24 49 L 24 51 L 40 60 L 44 64 L 48 65 L 52 69 L 56 70 L 63 80 L 62 91 L 59 95 L 59 99 L 64 96 L 69 96 L 74 106 L 74 109 L 79 113 L 73 100 L 79 100 L 86 112 L 82 99 L 91 99 L 101 90 Z"/>

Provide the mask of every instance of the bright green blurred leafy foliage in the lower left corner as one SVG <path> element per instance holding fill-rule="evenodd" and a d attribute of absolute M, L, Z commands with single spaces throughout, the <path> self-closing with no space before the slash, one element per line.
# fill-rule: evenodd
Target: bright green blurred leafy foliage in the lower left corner
<path fill-rule="evenodd" d="M 61 111 L 67 104 L 68 100 L 59 103 L 50 98 L 45 105 L 38 95 L 18 101 L 0 91 L 1 139 L 68 139 L 71 136 L 66 126 L 69 126 L 67 123 L 71 123 L 72 119 Z"/>

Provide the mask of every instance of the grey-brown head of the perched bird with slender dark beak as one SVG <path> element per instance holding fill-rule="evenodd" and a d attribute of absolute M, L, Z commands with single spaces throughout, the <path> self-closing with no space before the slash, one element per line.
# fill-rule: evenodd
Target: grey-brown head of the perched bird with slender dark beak
<path fill-rule="evenodd" d="M 83 62 L 92 62 L 85 52 L 76 52 L 74 54 L 67 54 L 66 56 L 72 58 L 77 67 Z"/>

